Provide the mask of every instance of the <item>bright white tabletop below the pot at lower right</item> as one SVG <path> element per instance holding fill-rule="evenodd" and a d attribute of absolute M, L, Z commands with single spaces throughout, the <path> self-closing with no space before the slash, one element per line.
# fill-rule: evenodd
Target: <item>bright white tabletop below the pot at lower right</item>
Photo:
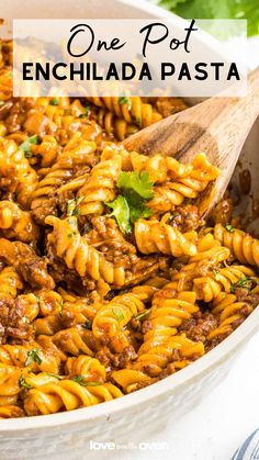
<path fill-rule="evenodd" d="M 177 426 L 168 426 L 143 439 L 145 442 L 166 441 L 168 450 L 97 451 L 91 459 L 230 460 L 245 438 L 259 428 L 258 383 L 259 334 L 238 356 L 225 381 Z M 134 442 L 134 439 L 128 441 Z"/>

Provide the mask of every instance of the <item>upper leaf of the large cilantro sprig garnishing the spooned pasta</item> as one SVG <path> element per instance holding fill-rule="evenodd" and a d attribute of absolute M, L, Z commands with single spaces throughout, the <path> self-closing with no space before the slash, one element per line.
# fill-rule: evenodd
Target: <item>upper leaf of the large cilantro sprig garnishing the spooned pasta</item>
<path fill-rule="evenodd" d="M 121 172 L 117 179 L 117 187 L 123 189 L 124 192 L 127 192 L 127 190 L 134 190 L 145 200 L 150 200 L 154 197 L 153 186 L 154 182 L 150 181 L 149 173 L 147 171 L 142 171 L 140 173 L 137 171 Z"/>

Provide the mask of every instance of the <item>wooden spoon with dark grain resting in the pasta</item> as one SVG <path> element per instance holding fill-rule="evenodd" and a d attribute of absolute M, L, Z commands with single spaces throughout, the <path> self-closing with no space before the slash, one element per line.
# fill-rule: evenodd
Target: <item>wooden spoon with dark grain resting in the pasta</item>
<path fill-rule="evenodd" d="M 202 215 L 207 214 L 225 192 L 243 145 L 259 115 L 259 67 L 248 77 L 247 96 L 216 97 L 170 115 L 124 141 L 130 152 L 173 156 L 189 162 L 203 152 L 222 173 L 199 197 Z"/>

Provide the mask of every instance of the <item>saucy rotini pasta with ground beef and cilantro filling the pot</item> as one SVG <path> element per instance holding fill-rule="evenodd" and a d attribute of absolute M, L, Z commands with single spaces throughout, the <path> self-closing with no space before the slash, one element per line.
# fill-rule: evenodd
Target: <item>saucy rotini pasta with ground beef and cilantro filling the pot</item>
<path fill-rule="evenodd" d="M 127 152 L 178 98 L 12 97 L 0 42 L 0 417 L 121 397 L 193 362 L 259 303 L 259 240 L 221 171 Z"/>

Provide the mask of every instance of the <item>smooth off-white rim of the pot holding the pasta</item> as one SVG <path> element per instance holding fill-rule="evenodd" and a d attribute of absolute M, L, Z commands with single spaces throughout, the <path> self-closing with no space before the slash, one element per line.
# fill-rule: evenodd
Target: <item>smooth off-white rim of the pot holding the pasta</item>
<path fill-rule="evenodd" d="M 131 8 L 135 8 L 139 11 L 146 11 L 147 13 L 154 14 L 155 18 L 173 18 L 179 24 L 185 23 L 185 20 L 177 16 L 176 14 L 161 9 L 160 7 L 148 3 L 146 0 L 114 0 L 117 3 L 127 4 Z M 207 35 L 205 34 L 205 37 Z M 212 46 L 216 46 L 216 41 L 212 38 L 210 41 Z M 258 305 L 259 306 L 259 305 Z M 74 411 L 60 412 L 49 415 L 29 416 L 21 418 L 10 418 L 0 420 L 0 435 L 10 435 L 10 437 L 16 437 L 15 435 L 22 435 L 24 431 L 33 435 L 34 430 L 38 429 L 50 429 L 58 427 L 78 427 L 79 423 L 89 420 L 112 420 L 113 415 L 117 415 L 126 409 L 133 409 L 143 403 L 148 403 L 156 397 L 165 394 L 172 394 L 181 386 L 190 384 L 196 380 L 199 374 L 204 374 L 211 368 L 216 368 L 221 361 L 225 361 L 228 356 L 233 355 L 235 349 L 241 346 L 241 344 L 259 329 L 259 307 L 249 315 L 249 317 L 226 339 L 218 344 L 211 351 L 192 362 L 187 368 L 178 371 L 177 373 L 165 378 L 164 380 L 140 389 L 134 393 L 124 395 L 113 401 L 100 403 L 89 407 L 82 407 Z M 56 431 L 53 431 L 56 434 Z"/>

